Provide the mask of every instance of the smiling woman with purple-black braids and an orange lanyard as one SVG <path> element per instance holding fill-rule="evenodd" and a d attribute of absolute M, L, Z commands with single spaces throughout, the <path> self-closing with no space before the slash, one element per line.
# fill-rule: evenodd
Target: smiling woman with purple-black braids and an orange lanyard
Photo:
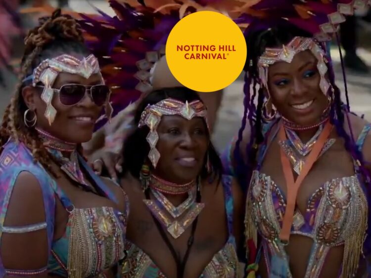
<path fill-rule="evenodd" d="M 248 271 L 369 277 L 371 125 L 342 103 L 324 43 L 285 21 L 259 24 L 246 36 L 246 116 L 225 159 L 247 189 Z"/>

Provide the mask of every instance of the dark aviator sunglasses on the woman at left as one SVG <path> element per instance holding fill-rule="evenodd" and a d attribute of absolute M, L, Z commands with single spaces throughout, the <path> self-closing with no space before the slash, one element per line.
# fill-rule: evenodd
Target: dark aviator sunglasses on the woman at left
<path fill-rule="evenodd" d="M 45 88 L 45 86 L 37 86 Z M 65 106 L 73 106 L 82 101 L 85 94 L 88 93 L 91 100 L 96 106 L 102 106 L 109 98 L 111 90 L 107 85 L 93 85 L 86 86 L 82 84 L 64 84 L 60 89 L 54 89 L 53 91 L 59 94 L 59 101 Z"/>

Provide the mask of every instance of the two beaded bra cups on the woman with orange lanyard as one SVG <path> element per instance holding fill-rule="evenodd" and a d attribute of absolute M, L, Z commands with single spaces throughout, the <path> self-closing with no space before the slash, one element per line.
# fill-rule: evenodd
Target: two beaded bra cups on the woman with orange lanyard
<path fill-rule="evenodd" d="M 259 219 L 268 219 L 272 228 L 276 228 L 264 231 L 278 232 L 286 206 L 278 185 L 270 176 L 254 171 L 251 186 L 249 198 L 254 216 L 261 223 Z M 357 202 L 364 198 L 357 176 L 328 181 L 308 200 L 304 215 L 299 209 L 295 210 L 291 234 L 324 240 L 329 245 L 339 243 L 355 227 L 356 215 L 363 209 Z M 332 223 L 333 229 L 325 223 Z M 336 232 L 340 227 L 341 231 Z M 264 236 L 271 238 L 270 233 Z"/>

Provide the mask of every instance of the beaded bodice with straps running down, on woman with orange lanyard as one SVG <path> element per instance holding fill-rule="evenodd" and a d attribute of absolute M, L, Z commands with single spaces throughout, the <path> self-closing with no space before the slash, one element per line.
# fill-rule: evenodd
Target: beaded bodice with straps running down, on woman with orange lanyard
<path fill-rule="evenodd" d="M 259 233 L 287 260 L 282 244 L 276 243 L 286 203 L 277 184 L 270 176 L 254 171 L 248 198 Z M 317 277 L 329 248 L 344 243 L 365 228 L 360 219 L 364 218 L 366 205 L 357 176 L 351 176 L 326 182 L 308 200 L 304 215 L 295 210 L 291 234 L 314 240 L 305 277 Z"/>

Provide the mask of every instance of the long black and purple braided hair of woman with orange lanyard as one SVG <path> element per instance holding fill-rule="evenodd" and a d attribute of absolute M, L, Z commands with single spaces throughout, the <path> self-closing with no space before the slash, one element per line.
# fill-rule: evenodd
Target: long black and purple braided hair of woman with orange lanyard
<path fill-rule="evenodd" d="M 253 29 L 253 28 L 251 28 Z M 313 36 L 293 25 L 283 23 L 282 26 L 274 26 L 264 31 L 259 30 L 256 32 L 250 32 L 246 36 L 247 45 L 249 45 L 247 52 L 247 59 L 245 64 L 245 86 L 244 86 L 244 117 L 242 119 L 242 125 L 238 132 L 238 137 L 233 150 L 233 157 L 235 159 L 236 174 L 240 182 L 246 190 L 246 185 L 251 178 L 252 170 L 256 166 L 258 146 L 267 140 L 267 135 L 263 135 L 263 125 L 266 124 L 263 119 L 263 104 L 265 101 L 264 90 L 260 87 L 257 93 L 257 105 L 254 104 L 256 96 L 256 85 L 259 83 L 259 71 L 258 71 L 258 59 L 263 54 L 267 47 L 279 47 L 290 42 L 294 37 L 306 37 L 312 38 Z M 320 45 L 325 49 L 324 45 Z M 354 142 L 353 134 L 348 135 L 344 128 L 344 117 L 348 116 L 349 113 L 344 109 L 344 104 L 340 98 L 340 90 L 335 84 L 335 78 L 333 68 L 331 65 L 330 58 L 327 57 L 327 68 L 328 68 L 328 79 L 332 90 L 333 103 L 331 105 L 331 123 L 335 126 L 336 131 L 340 137 L 344 139 L 344 145 L 346 150 L 350 153 L 352 158 L 357 161 L 360 171 L 364 177 L 364 180 L 369 183 L 370 171 L 366 168 L 366 162 L 363 159 L 361 150 L 358 149 Z M 250 96 L 250 85 L 253 85 L 253 95 Z M 242 134 L 246 128 L 246 122 L 249 120 L 250 138 L 246 145 L 245 159 L 243 159 L 241 152 L 241 141 Z M 246 171 L 247 169 L 247 171 Z"/>

